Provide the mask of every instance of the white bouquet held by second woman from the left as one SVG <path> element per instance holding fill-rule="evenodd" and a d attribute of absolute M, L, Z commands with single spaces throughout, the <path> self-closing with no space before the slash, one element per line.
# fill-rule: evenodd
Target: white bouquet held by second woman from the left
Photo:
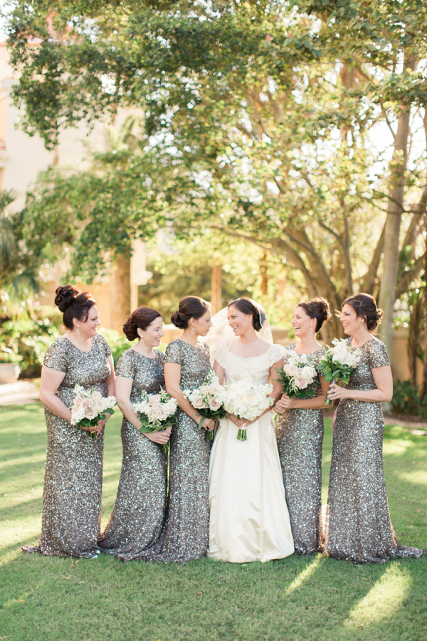
<path fill-rule="evenodd" d="M 139 430 L 142 434 L 160 432 L 176 422 L 178 402 L 162 388 L 158 394 L 147 394 L 143 391 L 142 399 L 132 403 L 132 407 L 142 422 Z M 164 454 L 169 454 L 169 442 L 162 445 L 162 450 Z"/>

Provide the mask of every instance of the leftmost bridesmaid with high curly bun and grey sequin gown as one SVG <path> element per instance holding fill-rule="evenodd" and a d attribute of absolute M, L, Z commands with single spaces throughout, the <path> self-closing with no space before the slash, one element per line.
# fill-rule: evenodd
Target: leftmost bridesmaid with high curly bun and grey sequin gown
<path fill-rule="evenodd" d="M 40 400 L 45 405 L 48 449 L 41 536 L 24 552 L 97 558 L 100 536 L 103 427 L 70 424 L 75 385 L 114 395 L 111 350 L 97 333 L 100 316 L 88 292 L 58 287 L 55 304 L 68 332 L 48 349 L 41 370 Z M 96 432 L 92 439 L 88 432 Z"/>

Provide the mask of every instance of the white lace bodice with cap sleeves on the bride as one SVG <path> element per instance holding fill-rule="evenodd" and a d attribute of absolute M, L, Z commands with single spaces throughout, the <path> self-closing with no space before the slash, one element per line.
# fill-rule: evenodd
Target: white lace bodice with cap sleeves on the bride
<path fill-rule="evenodd" d="M 218 343 L 215 350 L 215 360 L 223 368 L 226 382 L 241 380 L 243 374 L 248 371 L 255 385 L 268 383 L 270 367 L 278 363 L 282 356 L 283 348 L 280 345 L 271 345 L 265 353 L 250 358 L 233 354 L 225 341 Z"/>

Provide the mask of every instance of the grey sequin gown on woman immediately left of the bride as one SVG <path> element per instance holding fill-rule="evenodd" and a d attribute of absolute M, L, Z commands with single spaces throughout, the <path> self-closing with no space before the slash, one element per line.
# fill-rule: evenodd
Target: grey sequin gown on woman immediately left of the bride
<path fill-rule="evenodd" d="M 194 390 L 211 371 L 209 347 L 177 338 L 166 348 L 165 363 L 181 365 L 181 390 Z M 182 410 L 170 439 L 167 513 L 159 541 L 142 558 L 186 563 L 206 554 L 209 536 L 208 467 L 211 442 Z"/>

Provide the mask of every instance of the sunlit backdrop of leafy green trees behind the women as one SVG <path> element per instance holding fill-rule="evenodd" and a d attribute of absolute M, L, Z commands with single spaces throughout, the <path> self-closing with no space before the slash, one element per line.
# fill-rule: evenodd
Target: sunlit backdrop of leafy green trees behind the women
<path fill-rule="evenodd" d="M 21 126 L 53 149 L 64 127 L 109 126 L 84 170 L 39 177 L 19 225 L 4 211 L 18 271 L 67 246 L 73 276 L 129 283 L 140 238 L 141 296 L 165 316 L 219 282 L 284 327 L 300 298 L 371 293 L 389 349 L 408 328 L 427 397 L 422 0 L 15 0 L 6 20 Z M 336 335 L 334 318 L 322 338 Z"/>

